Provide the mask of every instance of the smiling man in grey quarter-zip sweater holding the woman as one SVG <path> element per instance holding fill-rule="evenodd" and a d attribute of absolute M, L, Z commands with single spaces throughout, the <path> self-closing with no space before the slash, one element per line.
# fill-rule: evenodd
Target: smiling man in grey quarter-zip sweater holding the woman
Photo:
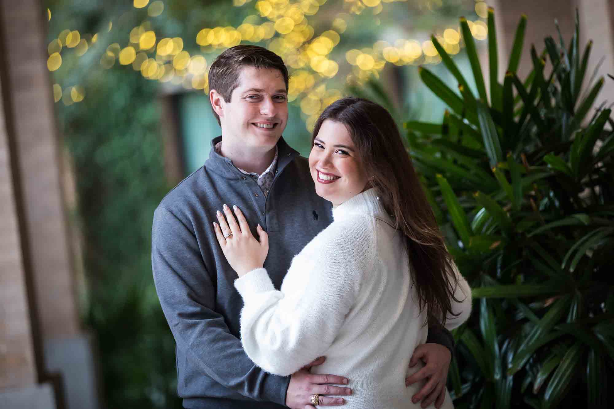
<path fill-rule="evenodd" d="M 343 376 L 309 373 L 325 357 L 287 377 L 249 360 L 239 340 L 237 276 L 212 228 L 223 204 L 241 208 L 252 234 L 262 225 L 270 241 L 265 267 L 279 288 L 293 255 L 332 222 L 330 203 L 316 195 L 306 158 L 281 138 L 287 85 L 286 66 L 273 52 L 251 45 L 223 52 L 209 71 L 209 98 L 222 136 L 212 141 L 204 166 L 171 190 L 153 217 L 153 278 L 176 340 L 177 391 L 186 408 L 313 408 L 311 402 L 343 405 L 343 395 L 352 392 Z M 406 380 L 430 378 L 414 396 L 414 402 L 426 397 L 425 407 L 443 402 L 453 346 L 446 333 L 437 335 L 438 343 L 416 350 L 412 362 L 422 358 L 427 365 Z"/>

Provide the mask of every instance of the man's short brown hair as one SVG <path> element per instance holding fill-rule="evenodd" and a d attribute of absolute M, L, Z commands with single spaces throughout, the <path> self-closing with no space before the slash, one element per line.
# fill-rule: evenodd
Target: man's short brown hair
<path fill-rule="evenodd" d="M 229 103 L 232 92 L 239 86 L 239 72 L 245 66 L 277 69 L 284 76 L 286 90 L 288 89 L 288 69 L 284 60 L 258 45 L 235 45 L 217 56 L 209 68 L 209 89 L 216 90 L 224 101 Z M 213 111 L 213 115 L 221 125 L 216 111 Z"/>

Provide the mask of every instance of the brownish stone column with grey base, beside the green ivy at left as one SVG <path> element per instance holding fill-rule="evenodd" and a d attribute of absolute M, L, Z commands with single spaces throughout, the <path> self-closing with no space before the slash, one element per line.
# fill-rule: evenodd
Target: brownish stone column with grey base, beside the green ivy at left
<path fill-rule="evenodd" d="M 42 362 L 37 378 L 56 381 L 65 398 L 58 405 L 98 408 L 93 343 L 80 328 L 77 310 L 42 10 L 39 0 L 0 2 L 4 112 L 17 181 L 14 197 L 20 199 L 24 274 L 32 284 L 30 305 L 36 306 L 30 313 L 38 329 L 34 342 L 40 345 L 35 356 Z M 4 236 L 4 230 L 0 234 Z"/>

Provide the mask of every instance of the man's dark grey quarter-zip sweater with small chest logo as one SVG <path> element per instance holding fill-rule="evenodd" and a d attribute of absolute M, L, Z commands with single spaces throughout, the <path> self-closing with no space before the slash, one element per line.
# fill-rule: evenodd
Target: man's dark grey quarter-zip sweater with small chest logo
<path fill-rule="evenodd" d="M 217 154 L 220 140 L 213 139 L 204 166 L 171 190 L 153 216 L 153 279 L 176 341 L 177 392 L 186 408 L 282 408 L 290 377 L 264 372 L 243 351 L 237 275 L 212 222 L 223 204 L 236 204 L 255 237 L 260 223 L 269 236 L 264 267 L 279 289 L 293 256 L 332 222 L 332 206 L 316 195 L 307 159 L 283 139 L 266 197 L 254 179 Z M 441 334 L 434 341 L 451 348 Z"/>

